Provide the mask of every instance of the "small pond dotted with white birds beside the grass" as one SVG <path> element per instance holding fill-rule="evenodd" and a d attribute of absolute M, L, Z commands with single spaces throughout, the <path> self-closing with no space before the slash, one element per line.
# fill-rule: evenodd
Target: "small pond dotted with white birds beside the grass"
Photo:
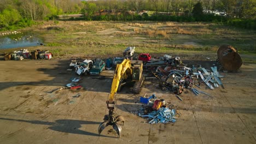
<path fill-rule="evenodd" d="M 16 33 L 0 36 L 0 49 L 37 46 L 42 43 L 43 40 L 32 33 Z"/>

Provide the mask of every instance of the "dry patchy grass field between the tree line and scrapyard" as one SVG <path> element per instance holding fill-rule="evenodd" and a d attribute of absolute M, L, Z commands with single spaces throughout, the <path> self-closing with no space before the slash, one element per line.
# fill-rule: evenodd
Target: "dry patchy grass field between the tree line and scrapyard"
<path fill-rule="evenodd" d="M 120 55 L 127 46 L 136 52 L 216 53 L 222 44 L 240 53 L 255 53 L 255 32 L 203 22 L 49 21 L 20 31 L 30 31 L 44 40 L 55 57 Z M 13 50 L 1 50 L 8 52 Z M 251 61 L 251 60 L 250 60 Z M 253 60 L 253 62 L 255 62 Z"/>

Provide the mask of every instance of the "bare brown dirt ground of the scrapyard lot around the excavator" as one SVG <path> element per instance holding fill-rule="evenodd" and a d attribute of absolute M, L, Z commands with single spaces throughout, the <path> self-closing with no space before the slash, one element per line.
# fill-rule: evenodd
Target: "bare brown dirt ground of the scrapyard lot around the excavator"
<path fill-rule="evenodd" d="M 108 112 L 106 100 L 113 70 L 83 76 L 79 90 L 64 87 L 75 77 L 68 59 L 0 61 L 1 143 L 256 143 L 256 64 L 243 64 L 238 73 L 223 73 L 225 89 L 185 89 L 183 101 L 147 80 L 141 94 L 124 88 L 117 94 L 117 113 L 125 117 L 121 137 L 109 126 L 97 134 Z M 202 65 L 204 66 L 204 65 Z M 209 65 L 208 65 L 209 66 Z M 72 96 L 80 93 L 79 98 Z M 135 115 L 139 96 L 156 94 L 181 115 L 176 123 L 148 124 Z"/>

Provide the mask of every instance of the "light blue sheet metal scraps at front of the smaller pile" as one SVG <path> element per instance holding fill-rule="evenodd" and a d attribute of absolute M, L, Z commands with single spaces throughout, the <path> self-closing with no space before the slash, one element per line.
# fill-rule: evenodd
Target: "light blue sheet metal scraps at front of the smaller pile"
<path fill-rule="evenodd" d="M 158 111 L 153 111 L 151 113 L 148 113 L 148 115 L 142 115 L 142 117 L 148 117 L 150 121 L 148 123 L 154 124 L 154 123 L 168 123 L 176 122 L 176 110 L 174 109 L 168 109 L 167 107 L 161 107 Z"/>

